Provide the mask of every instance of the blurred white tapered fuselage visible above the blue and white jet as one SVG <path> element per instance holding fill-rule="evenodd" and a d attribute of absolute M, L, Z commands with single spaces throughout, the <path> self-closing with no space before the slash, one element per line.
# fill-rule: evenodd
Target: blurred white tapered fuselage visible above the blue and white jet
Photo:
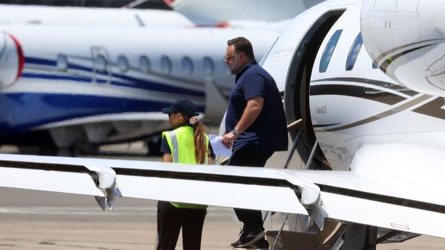
<path fill-rule="evenodd" d="M 169 10 L 51 7 L 0 4 L 0 24 L 87 25 L 110 27 L 193 27 L 186 16 Z"/>

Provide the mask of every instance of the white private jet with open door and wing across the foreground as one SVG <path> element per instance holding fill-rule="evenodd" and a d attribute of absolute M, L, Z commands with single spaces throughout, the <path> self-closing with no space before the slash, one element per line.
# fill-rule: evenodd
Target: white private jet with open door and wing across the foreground
<path fill-rule="evenodd" d="M 299 214 L 296 232 L 268 234 L 285 249 L 445 238 L 443 93 L 403 74 L 423 56 L 431 61 L 410 74 L 441 80 L 436 2 L 329 0 L 283 30 L 262 65 L 283 92 L 288 122 L 303 120 L 292 150 L 305 170 L 3 154 L 0 185 L 92 195 L 102 208 L 123 196 Z M 417 18 L 402 22 L 405 13 Z M 424 72 L 432 66 L 435 74 Z"/>

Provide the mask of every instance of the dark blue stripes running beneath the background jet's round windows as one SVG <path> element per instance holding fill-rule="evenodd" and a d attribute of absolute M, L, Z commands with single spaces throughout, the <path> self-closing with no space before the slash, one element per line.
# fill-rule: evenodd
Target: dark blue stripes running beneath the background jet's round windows
<path fill-rule="evenodd" d="M 26 57 L 26 59 L 27 59 L 27 62 L 29 62 L 30 64 L 44 64 L 44 65 L 51 65 L 51 66 L 55 66 L 55 64 L 56 64 L 55 61 L 52 61 L 52 64 L 50 64 L 51 60 L 49 60 L 49 59 L 41 59 L 41 58 L 36 58 L 36 57 Z M 68 68 L 92 72 L 91 68 L 88 68 L 85 66 L 79 66 L 77 64 L 68 64 Z M 105 73 L 99 72 L 99 74 L 102 77 L 108 77 L 107 72 L 105 72 Z M 65 76 L 57 76 L 57 75 L 53 75 L 53 74 L 31 75 L 31 73 L 25 73 L 25 74 L 23 74 L 23 77 L 38 78 L 38 79 L 51 79 L 51 80 L 59 79 L 59 80 L 69 80 L 69 81 L 76 81 L 76 79 L 77 79 L 77 77 L 65 77 Z M 195 90 L 186 89 L 183 87 L 173 87 L 173 86 L 164 85 L 162 83 L 153 83 L 152 81 L 146 81 L 144 79 L 137 79 L 137 78 L 125 76 L 122 74 L 113 73 L 112 77 L 118 77 L 120 79 L 129 81 L 128 83 L 112 81 L 111 82 L 112 85 L 124 86 L 124 87 L 136 87 L 138 89 L 153 90 L 153 91 L 157 91 L 157 92 L 167 92 L 167 93 L 174 93 L 174 94 L 183 94 L 183 95 L 188 95 L 188 96 L 205 97 L 205 92 L 202 92 L 202 91 L 195 91 Z M 79 77 L 80 82 L 87 82 L 86 79 L 90 79 L 90 81 L 92 81 L 92 79 L 88 78 L 88 77 L 81 77 L 81 78 Z M 105 83 L 106 80 L 97 79 L 97 82 Z"/>

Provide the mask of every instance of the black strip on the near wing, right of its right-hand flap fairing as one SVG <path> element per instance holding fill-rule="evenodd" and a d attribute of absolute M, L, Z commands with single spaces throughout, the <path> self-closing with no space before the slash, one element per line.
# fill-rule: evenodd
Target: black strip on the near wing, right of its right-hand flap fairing
<path fill-rule="evenodd" d="M 316 184 L 320 186 L 320 190 L 326 193 L 335 193 L 337 195 L 345 195 L 349 197 L 356 197 L 360 199 L 369 199 L 374 202 L 383 202 L 386 204 L 393 204 L 397 206 L 405 206 L 407 208 L 417 208 L 421 210 L 427 210 L 430 212 L 440 212 L 445 214 L 445 206 L 431 204 L 427 202 L 418 202 L 412 199 L 403 199 L 399 197 L 392 197 L 387 195 L 379 195 L 376 193 L 367 193 L 363 191 L 357 191 L 353 189 L 344 189 L 338 186 L 329 186 L 324 184 Z"/>

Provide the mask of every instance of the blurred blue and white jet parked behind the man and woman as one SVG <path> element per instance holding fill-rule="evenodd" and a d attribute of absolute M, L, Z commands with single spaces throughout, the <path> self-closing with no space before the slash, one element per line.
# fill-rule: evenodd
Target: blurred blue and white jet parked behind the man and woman
<path fill-rule="evenodd" d="M 66 25 L 0 27 L 0 140 L 69 148 L 168 128 L 160 112 L 190 98 L 219 123 L 233 85 L 227 40 L 246 36 L 262 58 L 276 31 Z M 202 39 L 201 39 L 202 38 Z"/>

